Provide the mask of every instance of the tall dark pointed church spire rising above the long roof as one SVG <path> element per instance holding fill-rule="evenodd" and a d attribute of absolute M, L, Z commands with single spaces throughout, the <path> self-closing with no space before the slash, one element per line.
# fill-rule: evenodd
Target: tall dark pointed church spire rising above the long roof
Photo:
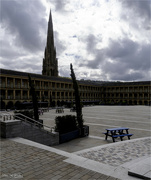
<path fill-rule="evenodd" d="M 48 21 L 47 43 L 43 59 L 42 75 L 58 76 L 58 59 L 56 58 L 56 48 L 54 47 L 51 10 Z"/>

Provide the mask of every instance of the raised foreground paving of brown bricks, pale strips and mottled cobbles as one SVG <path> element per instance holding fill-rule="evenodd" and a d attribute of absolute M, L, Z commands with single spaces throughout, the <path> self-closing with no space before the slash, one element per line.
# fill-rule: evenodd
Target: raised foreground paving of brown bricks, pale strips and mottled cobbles
<path fill-rule="evenodd" d="M 151 156 L 151 138 L 116 142 L 74 153 L 22 138 L 2 139 L 0 144 L 0 178 L 5 180 L 139 179 L 128 173 L 151 179 L 151 164 L 146 163 Z M 136 171 L 136 164 L 142 171 Z"/>

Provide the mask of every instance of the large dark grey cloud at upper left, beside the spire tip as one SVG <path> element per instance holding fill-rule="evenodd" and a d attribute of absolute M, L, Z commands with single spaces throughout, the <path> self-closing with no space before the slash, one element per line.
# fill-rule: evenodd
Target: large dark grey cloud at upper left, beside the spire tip
<path fill-rule="evenodd" d="M 45 7 L 39 0 L 2 0 L 2 28 L 13 36 L 13 44 L 31 52 L 43 48 L 41 33 L 46 27 Z"/>

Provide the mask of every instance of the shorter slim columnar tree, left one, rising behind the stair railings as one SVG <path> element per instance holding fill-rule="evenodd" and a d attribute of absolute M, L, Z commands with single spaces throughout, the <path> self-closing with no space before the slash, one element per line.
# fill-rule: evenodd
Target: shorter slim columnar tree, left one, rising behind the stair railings
<path fill-rule="evenodd" d="M 33 101 L 34 119 L 38 121 L 39 120 L 38 100 L 37 100 L 34 84 L 32 83 L 31 76 L 29 74 L 28 74 L 28 79 L 29 79 L 29 86 L 30 86 L 30 94 L 32 95 L 32 101 Z"/>

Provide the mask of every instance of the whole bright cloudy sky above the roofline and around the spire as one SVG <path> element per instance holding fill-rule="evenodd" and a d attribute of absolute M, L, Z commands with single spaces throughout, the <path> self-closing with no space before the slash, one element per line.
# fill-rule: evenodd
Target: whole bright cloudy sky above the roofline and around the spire
<path fill-rule="evenodd" d="M 51 9 L 59 75 L 151 79 L 151 0 L 0 0 L 0 67 L 41 74 Z"/>

